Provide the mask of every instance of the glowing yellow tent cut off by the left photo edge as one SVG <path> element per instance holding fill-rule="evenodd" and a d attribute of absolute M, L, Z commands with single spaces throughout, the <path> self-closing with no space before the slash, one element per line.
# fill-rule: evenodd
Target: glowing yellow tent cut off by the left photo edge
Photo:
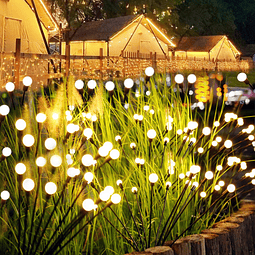
<path fill-rule="evenodd" d="M 47 53 L 48 35 L 57 30 L 43 0 L 0 1 L 0 53 L 15 52 L 16 38 L 22 53 Z"/>

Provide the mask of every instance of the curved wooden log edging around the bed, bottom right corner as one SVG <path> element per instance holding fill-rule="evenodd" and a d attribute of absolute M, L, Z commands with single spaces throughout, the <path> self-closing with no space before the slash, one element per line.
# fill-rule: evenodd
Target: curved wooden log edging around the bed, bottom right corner
<path fill-rule="evenodd" d="M 180 238 L 172 248 L 170 244 L 126 255 L 255 255 L 255 203 L 242 202 L 237 212 L 211 229 Z"/>

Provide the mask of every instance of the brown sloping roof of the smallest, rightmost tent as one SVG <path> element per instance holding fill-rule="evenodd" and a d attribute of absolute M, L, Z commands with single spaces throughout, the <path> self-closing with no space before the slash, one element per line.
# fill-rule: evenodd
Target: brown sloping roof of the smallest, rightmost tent
<path fill-rule="evenodd" d="M 176 51 L 210 51 L 223 35 L 191 36 L 183 37 L 179 42 Z"/>

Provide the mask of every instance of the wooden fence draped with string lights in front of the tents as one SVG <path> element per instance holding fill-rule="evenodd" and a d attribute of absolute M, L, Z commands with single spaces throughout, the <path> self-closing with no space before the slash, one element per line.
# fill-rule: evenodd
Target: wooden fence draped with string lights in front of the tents
<path fill-rule="evenodd" d="M 157 72 L 175 73 L 182 70 L 219 70 L 247 71 L 253 68 L 253 62 L 247 60 L 235 62 L 212 62 L 204 59 L 173 59 L 156 53 L 141 54 L 124 52 L 120 57 L 104 56 L 100 49 L 98 56 L 70 56 L 67 47 L 66 55 L 30 54 L 20 52 L 20 39 L 16 41 L 15 53 L 0 53 L 0 90 L 8 81 L 15 82 L 21 88 L 23 77 L 33 79 L 33 87 L 47 85 L 49 79 L 73 75 L 76 78 L 103 79 L 138 77 L 148 66 Z"/>

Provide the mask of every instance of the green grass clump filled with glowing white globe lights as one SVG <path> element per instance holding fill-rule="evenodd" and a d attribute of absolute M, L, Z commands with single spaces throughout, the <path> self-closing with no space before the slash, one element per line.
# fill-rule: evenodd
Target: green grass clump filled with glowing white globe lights
<path fill-rule="evenodd" d="M 240 158 L 254 126 L 224 103 L 212 111 L 213 98 L 191 110 L 190 94 L 167 77 L 70 77 L 3 103 L 1 251 L 142 251 L 238 207 L 254 184 Z"/>

